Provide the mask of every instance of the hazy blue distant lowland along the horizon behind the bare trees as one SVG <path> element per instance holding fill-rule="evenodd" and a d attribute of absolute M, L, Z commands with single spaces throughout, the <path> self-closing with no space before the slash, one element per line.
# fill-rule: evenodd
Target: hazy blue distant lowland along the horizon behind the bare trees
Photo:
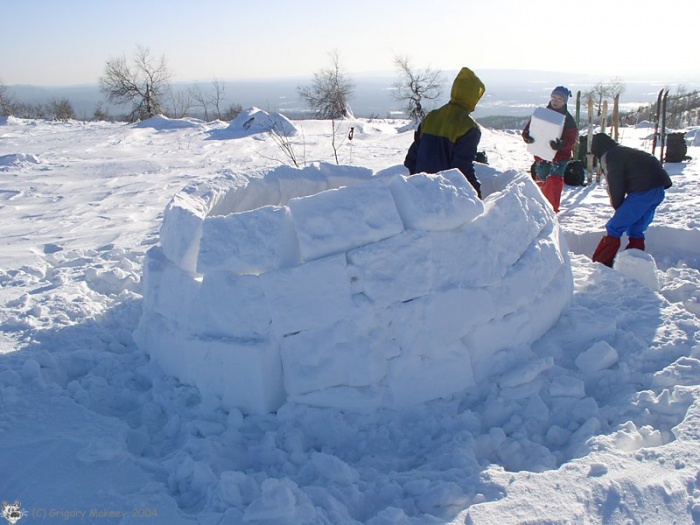
<path fill-rule="evenodd" d="M 456 71 L 445 71 L 445 86 L 443 95 L 434 101 L 433 107 L 446 103 L 449 99 L 452 79 Z M 511 122 L 505 117 L 529 116 L 535 107 L 545 105 L 549 93 L 557 85 L 567 85 L 574 93 L 586 91 L 598 82 L 610 79 L 593 75 L 572 75 L 552 71 L 519 71 L 519 70 L 480 70 L 479 76 L 486 84 L 486 94 L 479 102 L 474 116 L 482 125 L 501 127 L 498 123 Z M 403 117 L 401 104 L 395 100 L 392 85 L 397 77 L 392 74 L 361 75 L 352 77 L 355 83 L 351 107 L 357 117 Z M 289 118 L 302 118 L 308 112 L 297 95 L 297 88 L 311 82 L 310 78 L 291 78 L 279 80 L 258 81 L 226 81 L 224 105 L 240 104 L 247 109 L 252 106 L 266 111 L 283 113 Z M 625 82 L 625 92 L 621 99 L 621 111 L 635 111 L 642 105 L 650 104 L 656 99 L 661 87 L 671 88 L 672 93 L 681 85 L 678 82 L 664 80 L 632 80 Z M 186 89 L 194 83 L 176 83 L 175 90 Z M 198 84 L 207 90 L 209 82 Z M 73 106 L 76 116 L 80 119 L 92 117 L 95 109 L 101 104 L 110 114 L 119 116 L 128 113 L 127 107 L 119 107 L 106 103 L 97 84 L 68 87 L 38 87 L 27 85 L 7 86 L 13 98 L 29 104 L 43 104 L 51 99 L 67 99 Z M 686 89 L 700 88 L 700 79 L 685 83 Z M 573 109 L 570 101 L 569 108 Z M 573 111 L 572 111 L 573 112 Z M 488 118 L 487 118 L 488 117 Z M 493 118 L 490 117 L 499 117 Z M 513 118 L 514 127 L 520 122 Z M 488 123 L 493 123 L 490 126 Z"/>

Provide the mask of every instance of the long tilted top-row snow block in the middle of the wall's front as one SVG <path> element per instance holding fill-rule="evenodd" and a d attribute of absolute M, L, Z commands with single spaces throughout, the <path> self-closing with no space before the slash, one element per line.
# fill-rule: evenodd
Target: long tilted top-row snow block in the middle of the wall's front
<path fill-rule="evenodd" d="M 289 209 L 306 261 L 381 241 L 403 231 L 391 192 L 381 181 L 292 199 Z"/>

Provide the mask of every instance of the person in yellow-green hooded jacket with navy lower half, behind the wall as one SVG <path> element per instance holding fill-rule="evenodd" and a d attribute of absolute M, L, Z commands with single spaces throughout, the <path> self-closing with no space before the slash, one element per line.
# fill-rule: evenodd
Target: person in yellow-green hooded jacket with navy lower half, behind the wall
<path fill-rule="evenodd" d="M 479 77 L 463 67 L 452 84 L 450 101 L 428 113 L 416 129 L 404 160 L 411 175 L 457 168 L 481 198 L 481 184 L 474 172 L 481 130 L 471 113 L 485 91 Z"/>

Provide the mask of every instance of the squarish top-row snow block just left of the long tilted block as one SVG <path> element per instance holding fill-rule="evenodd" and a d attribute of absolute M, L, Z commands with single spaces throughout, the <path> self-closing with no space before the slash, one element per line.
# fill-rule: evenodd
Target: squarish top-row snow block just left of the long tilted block
<path fill-rule="evenodd" d="M 228 270 L 257 275 L 299 262 L 299 244 L 288 208 L 263 206 L 204 222 L 199 273 Z"/>

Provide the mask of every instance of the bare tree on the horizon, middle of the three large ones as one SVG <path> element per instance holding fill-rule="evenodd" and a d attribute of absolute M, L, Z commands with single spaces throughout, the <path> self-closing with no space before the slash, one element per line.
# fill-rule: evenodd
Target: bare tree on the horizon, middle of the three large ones
<path fill-rule="evenodd" d="M 329 53 L 331 65 L 314 73 L 310 86 L 300 86 L 299 96 L 322 120 L 337 119 L 349 115 L 348 102 L 355 85 L 340 67 L 338 51 Z"/>

